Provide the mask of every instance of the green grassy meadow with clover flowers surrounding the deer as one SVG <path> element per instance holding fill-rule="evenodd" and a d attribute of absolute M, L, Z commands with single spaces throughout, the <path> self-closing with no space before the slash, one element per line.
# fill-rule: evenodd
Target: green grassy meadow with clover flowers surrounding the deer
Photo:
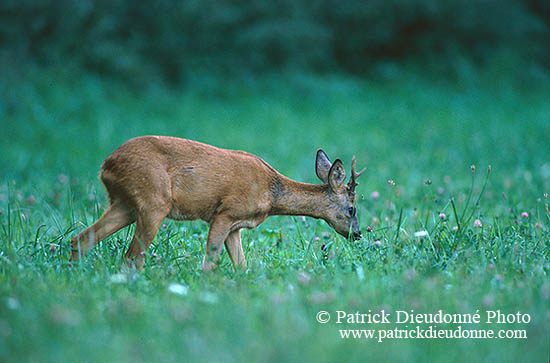
<path fill-rule="evenodd" d="M 135 91 L 29 70 L 1 89 L 0 360 L 547 361 L 550 80 L 539 77 L 442 82 L 397 71 L 371 82 L 201 78 Z M 243 233 L 246 273 L 233 273 L 224 253 L 205 275 L 207 225 L 167 220 L 141 272 L 121 268 L 133 227 L 69 267 L 70 237 L 106 206 L 100 163 L 143 134 L 246 150 L 307 182 L 316 182 L 318 148 L 346 167 L 355 154 L 367 167 L 364 238 L 272 217 Z M 465 328 L 526 329 L 528 338 L 345 340 L 339 329 L 396 325 L 315 318 L 369 309 L 479 311 L 483 322 Z M 486 324 L 485 311 L 498 309 L 531 322 Z"/>

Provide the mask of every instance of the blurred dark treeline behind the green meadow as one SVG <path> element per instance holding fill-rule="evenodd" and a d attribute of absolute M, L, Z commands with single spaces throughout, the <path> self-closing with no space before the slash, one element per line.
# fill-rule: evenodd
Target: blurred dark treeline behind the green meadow
<path fill-rule="evenodd" d="M 550 65 L 548 0 L 3 0 L 0 55 L 126 78 L 189 72 L 365 73 L 380 61 Z"/>

